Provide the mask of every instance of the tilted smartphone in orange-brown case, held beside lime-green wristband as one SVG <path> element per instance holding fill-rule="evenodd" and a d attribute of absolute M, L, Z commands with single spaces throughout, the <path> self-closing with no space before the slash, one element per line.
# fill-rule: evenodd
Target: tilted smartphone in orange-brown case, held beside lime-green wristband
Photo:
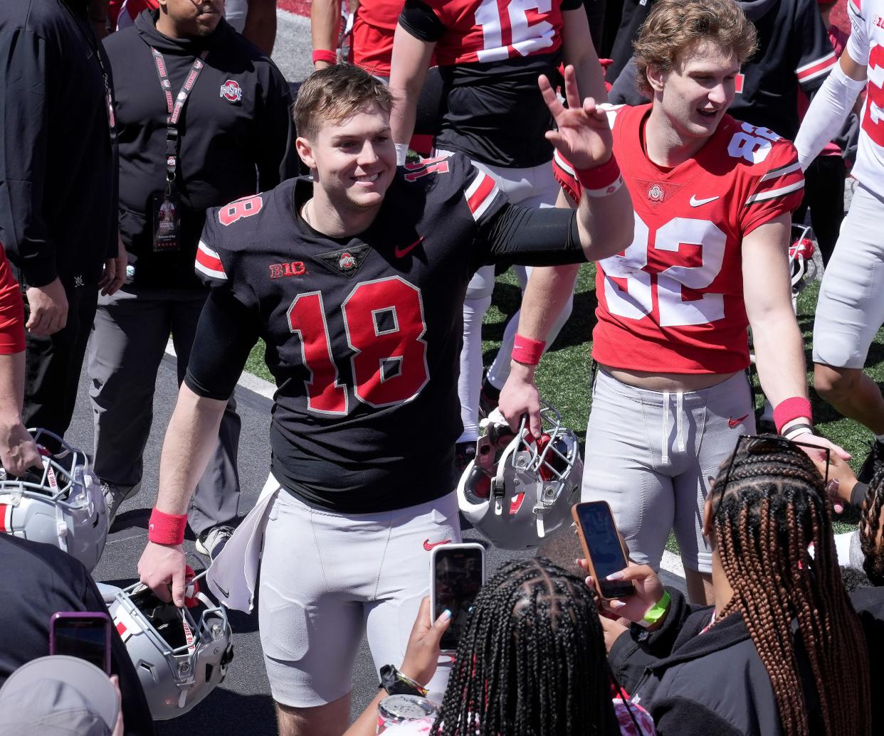
<path fill-rule="evenodd" d="M 627 566 L 626 545 L 613 520 L 606 501 L 588 501 L 571 506 L 577 522 L 577 535 L 583 554 L 590 565 L 590 574 L 602 600 L 631 596 L 636 592 L 629 580 L 607 580 L 607 576 Z"/>

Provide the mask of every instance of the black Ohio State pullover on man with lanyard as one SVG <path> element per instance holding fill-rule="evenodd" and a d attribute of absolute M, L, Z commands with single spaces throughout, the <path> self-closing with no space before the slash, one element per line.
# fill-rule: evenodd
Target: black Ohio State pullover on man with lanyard
<path fill-rule="evenodd" d="M 136 288 L 202 289 L 194 257 L 205 210 L 297 173 L 292 97 L 271 59 L 224 19 L 204 38 L 171 39 L 156 30 L 156 17 L 143 11 L 104 40 L 117 99 L 120 236 Z M 208 51 L 179 123 L 179 249 L 158 253 L 152 196 L 166 184 L 168 107 L 151 47 L 163 57 L 172 99 Z"/>

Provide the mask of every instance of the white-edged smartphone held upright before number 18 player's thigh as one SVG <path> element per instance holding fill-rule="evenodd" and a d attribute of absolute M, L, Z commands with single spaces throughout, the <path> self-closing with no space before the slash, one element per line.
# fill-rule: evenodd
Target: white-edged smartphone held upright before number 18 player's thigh
<path fill-rule="evenodd" d="M 435 621 L 451 611 L 440 649 L 453 651 L 461 641 L 473 601 L 485 581 L 485 548 L 481 544 L 440 544 L 430 554 L 430 603 Z"/>

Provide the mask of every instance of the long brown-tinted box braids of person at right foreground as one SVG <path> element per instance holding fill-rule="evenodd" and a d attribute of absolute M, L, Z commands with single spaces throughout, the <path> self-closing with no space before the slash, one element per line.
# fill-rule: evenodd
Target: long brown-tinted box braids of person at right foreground
<path fill-rule="evenodd" d="M 760 440 L 759 442 L 763 442 Z M 841 580 L 823 479 L 797 447 L 741 444 L 713 485 L 713 528 L 734 597 L 771 679 L 782 731 L 810 730 L 792 621 L 819 683 L 828 736 L 871 733 L 865 636 Z M 814 557 L 808 553 L 814 546 Z"/>

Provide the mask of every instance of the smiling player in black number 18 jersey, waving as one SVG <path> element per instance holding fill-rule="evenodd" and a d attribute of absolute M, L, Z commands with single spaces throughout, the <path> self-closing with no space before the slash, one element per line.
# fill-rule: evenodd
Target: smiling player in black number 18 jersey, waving
<path fill-rule="evenodd" d="M 397 169 L 390 92 L 348 65 L 314 72 L 298 95 L 311 176 L 210 210 L 196 269 L 213 288 L 139 572 L 183 604 L 182 514 L 262 337 L 278 386 L 271 478 L 209 582 L 249 610 L 263 538 L 260 629 L 281 733 L 345 730 L 365 627 L 377 666 L 401 664 L 430 550 L 460 540 L 452 455 L 473 272 L 598 260 L 632 238 L 605 115 L 581 104 L 570 67 L 566 77 L 567 110 L 545 77 L 541 87 L 558 126 L 547 138 L 597 193 L 576 211 L 511 205 L 466 156 Z"/>

